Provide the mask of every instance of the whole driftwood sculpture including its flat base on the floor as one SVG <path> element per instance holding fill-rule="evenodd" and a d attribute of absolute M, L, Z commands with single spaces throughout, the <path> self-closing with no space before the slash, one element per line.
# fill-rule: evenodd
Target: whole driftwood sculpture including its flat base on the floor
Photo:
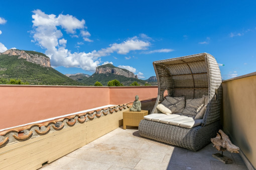
<path fill-rule="evenodd" d="M 227 150 L 231 153 L 239 153 L 239 147 L 234 145 L 229 137 L 222 131 L 219 130 L 219 133 L 217 133 L 217 136 L 214 138 L 211 138 L 211 142 L 214 144 L 213 147 L 215 147 L 217 150 L 221 151 L 220 153 L 212 154 L 213 157 L 216 159 L 222 161 L 223 163 L 232 163 L 232 159 L 229 157 L 226 157 L 223 155 L 223 151 Z"/>

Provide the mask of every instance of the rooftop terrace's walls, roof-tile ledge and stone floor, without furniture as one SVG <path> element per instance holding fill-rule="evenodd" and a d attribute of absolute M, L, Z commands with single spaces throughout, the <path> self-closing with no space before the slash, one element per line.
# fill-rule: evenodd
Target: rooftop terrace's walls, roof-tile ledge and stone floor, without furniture
<path fill-rule="evenodd" d="M 0 169 L 254 169 L 256 72 L 222 87 L 222 129 L 240 147 L 224 152 L 232 164 L 213 158 L 212 144 L 194 152 L 122 129 L 136 94 L 152 111 L 157 86 L 0 85 Z"/>

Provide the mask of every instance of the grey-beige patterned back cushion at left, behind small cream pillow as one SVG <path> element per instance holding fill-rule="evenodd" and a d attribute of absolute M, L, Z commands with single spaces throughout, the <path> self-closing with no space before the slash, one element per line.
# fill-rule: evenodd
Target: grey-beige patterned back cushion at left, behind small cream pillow
<path fill-rule="evenodd" d="M 180 113 L 185 108 L 185 97 L 166 96 L 166 99 L 164 99 L 164 101 L 162 101 L 161 104 L 170 109 L 171 113 Z"/>

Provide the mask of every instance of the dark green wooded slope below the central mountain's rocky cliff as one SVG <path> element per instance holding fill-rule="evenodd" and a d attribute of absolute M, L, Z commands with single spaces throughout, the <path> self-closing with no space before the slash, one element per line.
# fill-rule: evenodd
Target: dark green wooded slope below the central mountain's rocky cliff
<path fill-rule="evenodd" d="M 117 79 L 123 85 L 130 85 L 134 81 L 137 81 L 141 85 L 144 85 L 146 83 L 146 81 L 142 79 L 125 77 L 123 75 L 117 75 L 113 73 L 100 73 L 100 74 L 94 73 L 90 77 L 85 78 L 79 82 L 82 82 L 88 85 L 94 85 L 96 81 L 99 81 L 102 83 L 102 85 L 107 86 L 107 82 L 113 79 Z"/>

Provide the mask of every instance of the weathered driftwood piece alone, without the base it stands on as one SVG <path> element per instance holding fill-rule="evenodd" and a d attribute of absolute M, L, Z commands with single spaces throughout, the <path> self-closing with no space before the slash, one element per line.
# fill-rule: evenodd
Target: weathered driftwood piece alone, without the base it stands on
<path fill-rule="evenodd" d="M 211 138 L 211 142 L 214 144 L 213 147 L 219 151 L 227 150 L 231 153 L 239 153 L 239 147 L 234 145 L 222 130 L 219 130 L 216 137 Z"/>

